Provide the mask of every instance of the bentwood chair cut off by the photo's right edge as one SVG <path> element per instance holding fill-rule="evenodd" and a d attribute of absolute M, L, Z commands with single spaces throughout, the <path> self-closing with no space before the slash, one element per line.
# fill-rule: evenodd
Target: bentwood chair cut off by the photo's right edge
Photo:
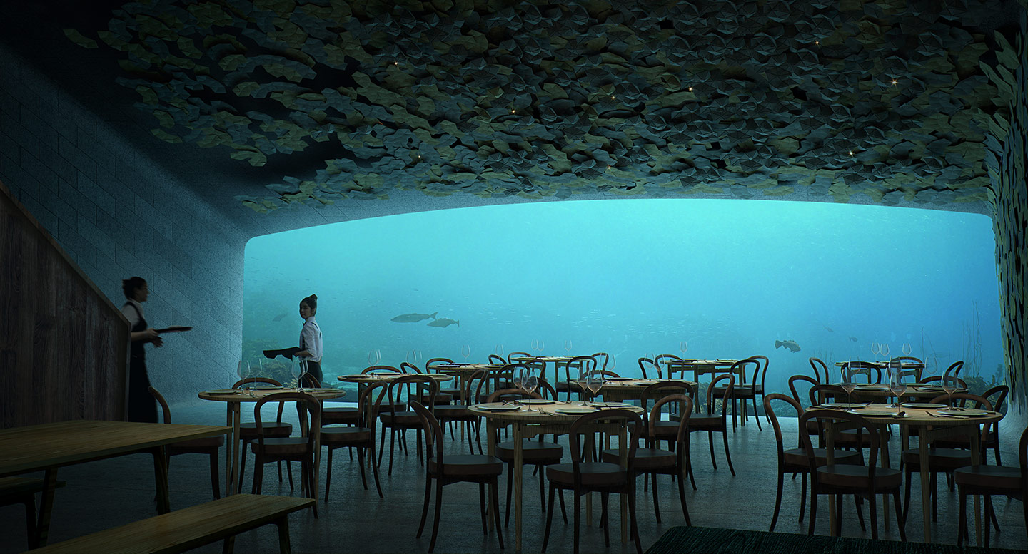
<path fill-rule="evenodd" d="M 989 546 L 989 520 L 995 520 L 995 509 L 992 506 L 993 494 L 1005 494 L 1021 500 L 1021 510 L 1028 527 L 1028 428 L 1021 432 L 1018 443 L 1020 467 L 1004 466 L 969 466 L 953 472 L 953 480 L 960 492 L 960 522 L 957 529 L 957 546 L 963 546 L 967 536 L 967 494 L 985 496 L 985 546 Z M 996 527 L 998 529 L 998 527 Z"/>

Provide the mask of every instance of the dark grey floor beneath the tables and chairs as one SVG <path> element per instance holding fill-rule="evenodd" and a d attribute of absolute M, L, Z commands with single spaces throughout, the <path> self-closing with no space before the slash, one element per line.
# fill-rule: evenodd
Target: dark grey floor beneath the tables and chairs
<path fill-rule="evenodd" d="M 244 410 L 246 411 L 246 410 Z M 173 406 L 176 423 L 223 424 L 225 421 L 222 404 L 197 401 L 188 405 Z M 295 419 L 295 413 L 292 414 Z M 245 420 L 249 418 L 244 416 Z M 750 420 L 750 424 L 752 420 Z M 796 420 L 783 420 L 785 435 L 795 441 Z M 767 530 L 771 522 L 776 486 L 776 458 L 774 434 L 765 426 L 758 431 L 755 425 L 741 428 L 729 434 L 729 447 L 737 475 L 733 477 L 724 464 L 724 451 L 715 435 L 718 469 L 710 467 L 706 436 L 693 437 L 692 448 L 696 484 L 698 490 L 687 487 L 690 516 L 694 525 L 707 527 L 731 527 L 740 529 Z M 1017 464 L 1016 439 L 1004 433 L 1002 456 L 1005 465 Z M 892 467 L 896 463 L 898 440 L 893 438 L 890 447 Z M 484 440 L 483 440 L 484 443 Z M 387 444 L 387 456 L 388 456 Z M 415 539 L 417 521 L 420 517 L 424 470 L 413 456 L 399 456 L 393 476 L 382 472 L 382 492 L 384 500 L 378 499 L 374 483 L 369 479 L 369 490 L 361 486 L 357 463 L 351 462 L 344 450 L 337 450 L 332 476 L 330 501 L 319 501 L 319 518 L 309 511 L 290 517 L 292 546 L 295 552 L 426 552 L 429 546 L 431 527 L 421 539 Z M 990 462 L 992 457 L 990 454 Z M 252 459 L 251 459 L 252 462 Z M 388 458 L 386 460 L 388 463 Z M 223 463 L 223 458 L 220 459 Z M 322 461 L 324 466 L 324 459 Z M 299 494 L 291 492 L 288 482 L 280 485 L 268 466 L 265 472 L 265 493 Z M 384 465 L 383 465 L 384 470 Z M 324 469 L 323 469 L 324 472 Z M 296 472 L 298 477 L 298 472 Z M 170 482 L 172 508 L 183 508 L 210 500 L 210 476 L 205 457 L 189 454 L 172 460 Z M 152 458 L 142 454 L 82 464 L 61 470 L 59 478 L 67 481 L 67 486 L 57 491 L 50 542 L 59 542 L 73 537 L 121 525 L 155 514 L 153 503 Z M 524 552 L 539 552 L 542 548 L 545 517 L 540 511 L 537 477 L 531 469 L 525 470 L 525 522 L 523 537 Z M 246 484 L 250 485 L 252 473 L 247 470 Z M 324 473 L 321 499 L 324 498 Z M 637 492 L 639 533 L 646 550 L 666 529 L 683 525 L 676 485 L 668 477 L 659 483 L 659 498 L 663 523 L 658 525 L 654 517 L 653 491 L 644 492 L 641 480 Z M 297 480 L 298 484 L 298 480 Z M 501 481 L 501 504 L 504 503 L 504 481 Z M 942 489 L 939 502 L 939 521 L 932 524 L 937 542 L 955 543 L 957 523 L 956 493 Z M 907 525 L 909 541 L 922 541 L 922 519 L 920 510 L 919 483 L 914 481 L 910 521 Z M 799 514 L 800 480 L 786 479 L 782 501 L 782 511 L 778 525 L 780 532 L 806 532 L 806 521 L 797 521 Z M 568 496 L 568 506 L 571 497 Z M 598 521 L 598 502 L 595 503 Z M 503 552 L 494 535 L 483 537 L 478 511 L 478 490 L 474 484 L 453 484 L 444 490 L 444 513 L 440 524 L 436 551 L 446 552 Z M 503 508 L 501 508 L 503 509 Z M 634 552 L 629 543 L 621 545 L 620 513 L 616 500 L 611 502 L 612 546 L 603 546 L 602 529 L 582 529 L 582 552 Z M 996 499 L 996 509 L 1001 530 L 993 533 L 992 546 L 1008 549 L 1028 549 L 1025 533 L 1022 504 L 1005 498 Z M 819 503 L 816 532 L 827 535 L 827 503 Z M 867 505 L 865 506 L 867 510 Z M 866 512 L 867 513 L 867 512 Z M 847 502 L 843 513 L 843 535 L 848 537 L 871 537 L 861 532 L 857 524 L 852 502 Z M 431 512 L 429 524 L 431 525 Z M 881 517 L 881 515 L 879 515 Z M 571 514 L 568 514 L 571 518 Z M 26 548 L 24 511 L 20 506 L 0 508 L 0 553 L 19 552 Z M 879 525 L 881 538 L 897 541 L 895 519 L 890 514 L 889 528 Z M 504 529 L 507 552 L 513 551 L 513 521 Z M 553 531 L 548 552 L 572 552 L 574 528 L 564 525 L 559 516 L 554 518 Z M 195 552 L 220 552 L 221 544 L 208 545 Z M 276 552 L 277 532 L 273 526 L 250 531 L 236 540 L 236 552 Z"/>

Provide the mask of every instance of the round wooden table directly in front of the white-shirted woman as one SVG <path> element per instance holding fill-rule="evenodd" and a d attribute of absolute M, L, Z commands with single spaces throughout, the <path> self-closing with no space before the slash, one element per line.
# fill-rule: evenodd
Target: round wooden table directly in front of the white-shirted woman
<path fill-rule="evenodd" d="M 285 387 L 254 387 L 252 389 L 218 389 L 211 391 L 200 391 L 196 396 L 204 400 L 214 402 L 225 402 L 226 420 L 225 425 L 231 428 L 228 440 L 231 442 L 230 448 L 225 448 L 225 496 L 232 494 L 235 489 L 240 475 L 240 424 L 241 405 L 244 402 L 256 402 L 265 396 L 281 392 L 298 392 L 299 389 Z M 332 388 L 303 389 L 318 400 L 331 400 L 345 396 L 346 391 Z M 306 421 L 306 411 L 298 410 L 301 422 Z M 303 432 L 306 436 L 306 433 Z M 315 482 L 314 490 L 318 490 L 318 468 L 321 463 L 321 447 L 319 437 L 315 437 Z"/>

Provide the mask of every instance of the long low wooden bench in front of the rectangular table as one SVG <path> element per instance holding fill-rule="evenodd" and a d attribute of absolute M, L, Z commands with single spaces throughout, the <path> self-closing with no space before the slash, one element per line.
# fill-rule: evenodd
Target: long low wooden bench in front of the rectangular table
<path fill-rule="evenodd" d="M 303 498 L 232 494 L 32 552 L 173 553 L 185 552 L 224 539 L 224 552 L 230 553 L 236 535 L 274 523 L 279 526 L 279 552 L 288 554 L 287 516 L 314 503 L 313 499 Z"/>

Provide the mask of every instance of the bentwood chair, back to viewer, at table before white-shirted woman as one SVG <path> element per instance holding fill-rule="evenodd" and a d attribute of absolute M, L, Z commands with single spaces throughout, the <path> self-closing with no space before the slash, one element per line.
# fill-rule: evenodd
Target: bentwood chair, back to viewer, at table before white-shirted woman
<path fill-rule="evenodd" d="M 260 410 L 268 402 L 296 402 L 297 408 L 309 416 L 309 428 L 300 437 L 268 437 L 264 434 Z M 260 494 L 264 482 L 264 465 L 280 460 L 299 462 L 302 478 L 300 488 L 308 499 L 317 499 L 315 483 L 315 440 L 321 433 L 321 401 L 302 392 L 282 392 L 269 394 L 254 404 L 254 421 L 257 424 L 257 439 L 250 443 L 254 452 L 254 484 L 251 493 Z M 302 418 L 301 418 L 302 421 Z M 314 507 L 318 517 L 318 503 Z"/>

